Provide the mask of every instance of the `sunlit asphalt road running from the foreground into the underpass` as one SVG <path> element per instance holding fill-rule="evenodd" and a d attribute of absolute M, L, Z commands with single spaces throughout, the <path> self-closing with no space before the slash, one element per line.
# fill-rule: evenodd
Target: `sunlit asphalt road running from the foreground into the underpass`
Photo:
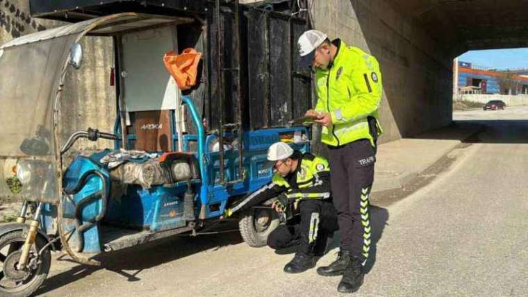
<path fill-rule="evenodd" d="M 484 128 L 450 153 L 456 161 L 432 183 L 373 207 L 375 246 L 356 295 L 528 296 L 528 108 L 455 112 L 454 119 Z M 291 257 L 250 248 L 236 232 L 170 239 L 105 257 L 101 268 L 54 260 L 38 294 L 338 295 L 339 278 L 315 269 L 284 274 Z"/>

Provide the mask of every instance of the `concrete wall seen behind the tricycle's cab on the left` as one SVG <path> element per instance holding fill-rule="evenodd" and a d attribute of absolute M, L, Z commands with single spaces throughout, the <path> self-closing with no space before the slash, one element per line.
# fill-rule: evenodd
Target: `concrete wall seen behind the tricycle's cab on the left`
<path fill-rule="evenodd" d="M 60 25 L 60 22 L 30 17 L 28 0 L 0 0 L 0 44 L 21 35 Z M 61 102 L 61 143 L 74 130 L 86 130 L 88 127 L 104 131 L 113 130 L 116 114 L 115 89 L 110 87 L 113 42 L 106 37 L 86 37 L 82 45 L 85 67 L 79 70 L 70 69 L 67 73 Z M 74 148 L 108 146 L 110 142 L 106 140 L 81 140 Z"/>

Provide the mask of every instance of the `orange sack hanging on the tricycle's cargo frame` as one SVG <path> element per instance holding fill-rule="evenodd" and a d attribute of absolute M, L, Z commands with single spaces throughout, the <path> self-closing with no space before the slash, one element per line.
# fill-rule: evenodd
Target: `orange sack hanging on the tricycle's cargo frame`
<path fill-rule="evenodd" d="M 198 63 L 201 53 L 195 49 L 184 49 L 177 55 L 174 51 L 165 53 L 163 63 L 170 75 L 176 80 L 180 90 L 189 90 L 196 85 Z"/>

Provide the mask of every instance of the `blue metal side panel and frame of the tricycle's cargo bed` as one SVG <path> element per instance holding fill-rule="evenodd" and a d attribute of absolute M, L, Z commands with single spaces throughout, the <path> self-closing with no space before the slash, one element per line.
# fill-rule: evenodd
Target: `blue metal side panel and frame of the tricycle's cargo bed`
<path fill-rule="evenodd" d="M 210 134 L 206 135 L 204 125 L 201 122 L 199 113 L 197 111 L 195 103 L 192 101 L 190 96 L 181 97 L 183 103 L 187 105 L 187 108 L 192 117 L 192 123 L 197 128 L 197 135 L 183 135 L 183 151 L 190 152 L 190 142 L 197 142 L 197 152 L 195 156 L 198 160 L 201 183 L 199 183 L 199 193 L 197 198 L 199 198 L 199 203 L 206 206 L 206 219 L 220 217 L 229 201 L 230 197 L 241 196 L 247 194 L 248 192 L 254 192 L 257 189 L 263 187 L 263 185 L 270 182 L 272 171 L 271 169 L 259 169 L 265 160 L 265 154 L 267 148 L 274 142 L 281 141 L 282 133 L 294 133 L 299 131 L 308 136 L 309 130 L 304 126 L 291 127 L 291 128 L 270 128 L 270 129 L 261 129 L 254 131 L 246 131 L 242 134 L 242 149 L 244 153 L 242 154 L 244 158 L 245 173 L 247 178 L 243 182 L 236 183 L 226 187 L 225 185 L 220 185 L 217 180 L 218 170 L 220 169 L 219 153 L 209 151 L 211 144 L 215 139 L 218 138 L 218 135 Z M 119 112 L 115 125 L 115 133 L 120 135 L 121 129 L 119 127 Z M 174 114 L 172 117 L 171 130 L 175 130 L 174 126 Z M 236 136 L 236 133 L 227 132 L 226 136 Z M 135 135 L 128 135 L 128 142 L 135 140 Z M 178 135 L 173 133 L 173 147 L 176 147 L 176 142 L 179 141 Z M 120 143 L 120 141 L 119 141 Z M 291 144 L 293 148 L 308 152 L 310 150 L 309 140 L 302 142 L 300 144 Z M 119 147 L 119 144 L 116 142 L 116 147 Z M 224 152 L 224 172 L 227 180 L 236 180 L 238 176 L 238 170 L 235 169 L 235 164 L 240 162 L 238 160 L 238 153 L 236 150 L 225 151 Z M 211 210 L 211 206 L 215 206 L 215 210 Z"/>

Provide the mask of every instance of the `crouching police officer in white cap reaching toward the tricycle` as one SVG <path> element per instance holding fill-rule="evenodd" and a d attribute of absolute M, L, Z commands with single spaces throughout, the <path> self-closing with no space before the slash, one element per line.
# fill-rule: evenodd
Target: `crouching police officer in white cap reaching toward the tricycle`
<path fill-rule="evenodd" d="M 329 235 L 338 229 L 328 162 L 311 153 L 294 151 L 283 142 L 270 146 L 267 160 L 274 167 L 272 182 L 226 210 L 224 217 L 278 196 L 272 208 L 286 217 L 286 223 L 270 233 L 267 245 L 275 249 L 298 245 L 284 272 L 301 273 L 315 266 L 315 257 L 324 254 Z"/>

